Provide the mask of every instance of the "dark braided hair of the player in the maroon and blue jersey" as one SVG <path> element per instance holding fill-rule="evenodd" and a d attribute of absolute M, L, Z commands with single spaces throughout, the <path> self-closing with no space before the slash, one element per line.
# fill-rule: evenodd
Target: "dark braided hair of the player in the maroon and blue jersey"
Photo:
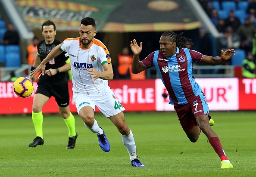
<path fill-rule="evenodd" d="M 192 43 L 191 39 L 188 39 L 188 38 L 182 36 L 182 34 L 183 33 L 175 34 L 175 32 L 173 32 L 173 31 L 165 31 L 161 36 L 169 36 L 170 37 L 170 41 L 176 42 L 176 46 L 179 49 L 186 48 L 186 44 L 187 45 L 194 44 L 194 43 Z"/>

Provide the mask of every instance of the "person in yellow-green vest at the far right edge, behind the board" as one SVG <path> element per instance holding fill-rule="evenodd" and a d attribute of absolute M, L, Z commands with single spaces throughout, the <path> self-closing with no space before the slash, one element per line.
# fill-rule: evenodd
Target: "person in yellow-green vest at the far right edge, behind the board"
<path fill-rule="evenodd" d="M 247 58 L 242 63 L 242 75 L 244 78 L 256 78 L 255 63 L 253 61 L 252 53 L 247 54 Z"/>

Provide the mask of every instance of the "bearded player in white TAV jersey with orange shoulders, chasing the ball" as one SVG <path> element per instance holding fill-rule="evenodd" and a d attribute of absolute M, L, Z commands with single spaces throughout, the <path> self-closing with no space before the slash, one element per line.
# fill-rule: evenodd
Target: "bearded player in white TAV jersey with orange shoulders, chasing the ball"
<path fill-rule="evenodd" d="M 94 118 L 95 106 L 97 106 L 121 133 L 122 141 L 130 155 L 131 165 L 144 167 L 145 165 L 137 158 L 134 137 L 125 122 L 123 113 L 125 108 L 108 86 L 108 81 L 113 79 L 111 58 L 106 46 L 94 38 L 96 33 L 94 19 L 91 17 L 82 19 L 79 30 L 80 37 L 68 38 L 56 46 L 41 64 L 31 71 L 31 76 L 34 77 L 39 71 L 42 71 L 43 75 L 45 65 L 50 59 L 55 58 L 63 51 L 67 52 L 73 78 L 73 99 L 85 127 L 97 134 L 100 148 L 109 152 L 110 145 L 106 134 Z"/>

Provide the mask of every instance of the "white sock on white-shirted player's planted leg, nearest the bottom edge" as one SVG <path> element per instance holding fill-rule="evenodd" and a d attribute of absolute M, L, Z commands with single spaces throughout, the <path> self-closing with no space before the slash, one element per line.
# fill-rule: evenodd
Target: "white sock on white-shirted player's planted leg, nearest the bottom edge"
<path fill-rule="evenodd" d="M 128 136 L 121 134 L 121 137 L 122 137 L 122 141 L 123 141 L 128 153 L 130 155 L 130 159 L 133 160 L 134 158 L 137 157 L 137 155 L 136 155 L 136 145 L 135 145 L 132 131 L 130 132 L 130 134 Z"/>

